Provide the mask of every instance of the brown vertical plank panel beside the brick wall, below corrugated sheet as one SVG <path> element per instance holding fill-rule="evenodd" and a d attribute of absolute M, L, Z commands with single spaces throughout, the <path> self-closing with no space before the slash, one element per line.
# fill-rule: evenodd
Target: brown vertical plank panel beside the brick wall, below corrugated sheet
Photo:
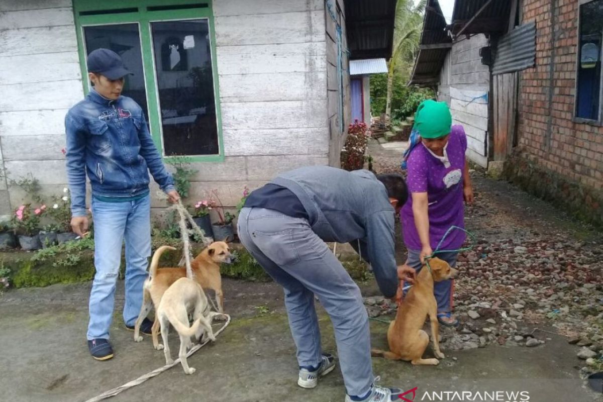
<path fill-rule="evenodd" d="M 510 72 L 493 76 L 493 160 L 504 161 L 513 149 L 517 120 L 517 86 L 519 74 Z"/>

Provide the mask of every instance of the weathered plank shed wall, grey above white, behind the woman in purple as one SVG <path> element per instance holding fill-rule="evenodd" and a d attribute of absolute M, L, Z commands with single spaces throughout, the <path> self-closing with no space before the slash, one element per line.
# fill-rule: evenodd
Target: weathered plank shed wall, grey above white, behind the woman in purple
<path fill-rule="evenodd" d="M 487 168 L 488 101 L 480 96 L 490 90 L 490 72 L 479 56 L 484 46 L 488 39 L 483 34 L 453 43 L 440 71 L 438 100 L 449 104 L 452 124 L 463 125 L 467 157 Z"/>

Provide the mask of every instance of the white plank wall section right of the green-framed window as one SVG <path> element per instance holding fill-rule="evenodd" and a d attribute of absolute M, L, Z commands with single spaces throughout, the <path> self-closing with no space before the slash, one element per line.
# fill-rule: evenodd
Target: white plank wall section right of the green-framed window
<path fill-rule="evenodd" d="M 213 13 L 226 159 L 196 164 L 193 196 L 215 188 L 233 206 L 245 184 L 329 163 L 324 0 L 220 0 Z"/>

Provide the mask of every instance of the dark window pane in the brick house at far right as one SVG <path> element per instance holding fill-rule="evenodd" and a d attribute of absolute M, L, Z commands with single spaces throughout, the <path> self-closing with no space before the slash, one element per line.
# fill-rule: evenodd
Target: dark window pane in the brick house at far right
<path fill-rule="evenodd" d="M 599 119 L 602 33 L 603 0 L 581 5 L 576 94 L 576 116 L 579 118 Z"/>

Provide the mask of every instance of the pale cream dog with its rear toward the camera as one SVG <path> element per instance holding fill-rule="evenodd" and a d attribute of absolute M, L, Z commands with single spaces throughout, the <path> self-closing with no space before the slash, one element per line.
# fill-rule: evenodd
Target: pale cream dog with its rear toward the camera
<path fill-rule="evenodd" d="M 192 313 L 194 320 L 189 327 L 188 316 Z M 206 333 L 209 339 L 213 342 L 216 337 L 212 330 L 212 319 L 214 315 L 219 313 L 211 312 L 209 304 L 207 304 L 207 296 L 197 281 L 189 278 L 180 278 L 175 281 L 163 294 L 159 307 L 157 307 L 157 319 L 161 325 L 161 337 L 163 338 L 163 353 L 165 354 L 165 364 L 174 362 L 169 353 L 168 334 L 169 324 L 180 335 L 180 363 L 185 369 L 186 374 L 192 374 L 195 369 L 189 367 L 186 360 L 186 351 L 191 345 L 191 336 L 201 338 L 203 333 Z"/>

